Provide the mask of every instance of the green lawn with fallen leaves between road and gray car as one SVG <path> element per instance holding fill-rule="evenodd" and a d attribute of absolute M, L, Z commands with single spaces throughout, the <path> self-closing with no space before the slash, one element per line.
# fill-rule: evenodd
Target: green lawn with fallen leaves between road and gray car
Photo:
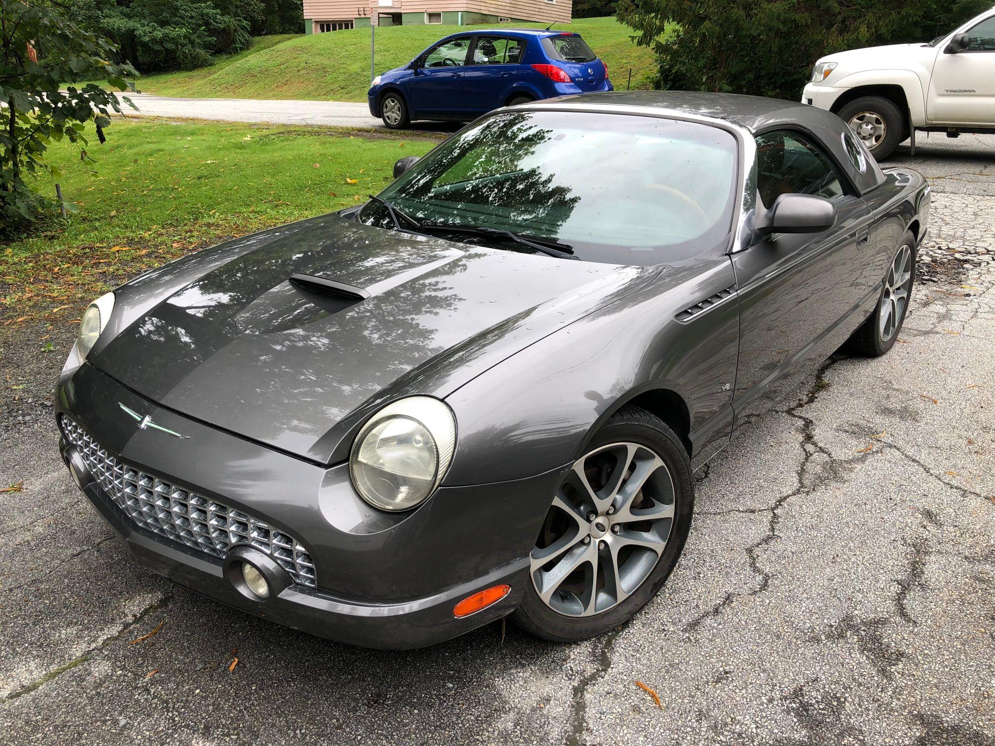
<path fill-rule="evenodd" d="M 273 225 L 365 201 L 398 158 L 432 135 L 252 124 L 115 119 L 80 160 L 53 145 L 67 226 L 0 243 L 0 318 L 79 317 L 109 287 L 184 254 Z M 42 182 L 54 193 L 54 184 Z"/>

